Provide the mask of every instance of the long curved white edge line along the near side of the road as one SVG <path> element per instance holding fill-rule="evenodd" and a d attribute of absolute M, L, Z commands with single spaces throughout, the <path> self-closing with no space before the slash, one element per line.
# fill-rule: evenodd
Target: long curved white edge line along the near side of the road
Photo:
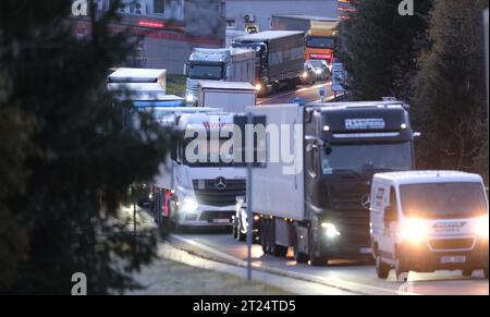
<path fill-rule="evenodd" d="M 184 242 L 184 243 L 191 244 L 197 248 L 200 248 L 201 251 L 205 251 L 205 252 L 213 254 L 218 257 L 221 257 L 222 259 L 229 260 L 232 264 L 235 264 L 236 266 L 240 266 L 240 267 L 247 266 L 247 263 L 245 260 L 243 260 L 238 257 L 229 255 L 226 253 L 223 253 L 221 251 L 215 249 L 215 248 L 207 246 L 195 240 L 187 239 L 187 237 L 184 237 L 184 236 L 177 235 L 177 234 L 172 234 L 171 236 L 174 237 L 175 240 L 179 240 L 181 242 Z M 340 290 L 344 290 L 347 292 L 354 292 L 354 293 L 358 293 L 358 294 L 370 295 L 371 293 L 363 292 L 360 290 L 360 289 L 365 289 L 365 290 L 371 290 L 372 292 L 376 291 L 377 293 L 375 293 L 375 294 L 388 293 L 388 294 L 392 294 L 392 295 L 401 295 L 401 294 L 403 294 L 403 295 L 420 295 L 418 293 L 413 293 L 413 292 L 401 292 L 400 290 L 391 290 L 391 289 L 378 288 L 378 286 L 372 286 L 372 285 L 363 284 L 363 283 L 351 282 L 351 281 L 341 281 L 338 279 L 332 279 L 332 278 L 315 277 L 315 276 L 307 275 L 307 273 L 287 271 L 287 270 L 280 269 L 280 268 L 265 266 L 265 265 L 258 264 L 258 263 L 253 263 L 252 266 L 257 270 L 266 271 L 269 273 L 277 273 L 277 275 L 285 276 L 289 278 L 296 278 L 296 279 L 306 280 L 306 281 L 310 281 L 310 282 L 321 283 L 327 286 L 336 288 Z M 401 284 L 401 286 L 402 286 L 402 284 Z"/>

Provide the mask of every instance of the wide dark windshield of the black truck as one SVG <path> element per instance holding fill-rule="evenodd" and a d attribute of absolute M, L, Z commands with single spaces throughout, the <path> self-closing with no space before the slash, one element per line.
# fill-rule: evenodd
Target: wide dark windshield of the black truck
<path fill-rule="evenodd" d="M 332 145 L 330 154 L 322 151 L 323 174 L 335 171 L 355 173 L 406 171 L 412 169 L 412 144 Z"/>

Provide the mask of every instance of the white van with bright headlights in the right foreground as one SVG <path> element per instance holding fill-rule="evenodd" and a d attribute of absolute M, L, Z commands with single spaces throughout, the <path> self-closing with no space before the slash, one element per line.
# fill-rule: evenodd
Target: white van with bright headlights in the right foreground
<path fill-rule="evenodd" d="M 483 270 L 488 279 L 488 197 L 480 175 L 453 171 L 375 174 L 371 244 L 378 277 L 409 271 Z"/>

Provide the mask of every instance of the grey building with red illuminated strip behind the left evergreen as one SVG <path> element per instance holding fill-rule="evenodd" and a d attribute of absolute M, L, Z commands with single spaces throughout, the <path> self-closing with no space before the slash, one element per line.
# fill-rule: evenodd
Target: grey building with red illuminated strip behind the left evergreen
<path fill-rule="evenodd" d="M 112 0 L 99 0 L 100 12 Z M 225 41 L 224 0 L 124 0 L 118 9 L 121 21 L 111 32 L 130 29 L 136 52 L 124 66 L 167 69 L 179 74 L 196 47 L 220 48 Z M 90 32 L 88 19 L 78 16 L 78 36 Z"/>

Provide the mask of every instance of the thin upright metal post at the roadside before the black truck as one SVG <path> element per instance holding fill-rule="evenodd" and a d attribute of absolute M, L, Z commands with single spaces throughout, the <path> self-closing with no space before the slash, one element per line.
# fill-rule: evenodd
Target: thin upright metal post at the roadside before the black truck
<path fill-rule="evenodd" d="M 252 280 L 252 244 L 254 240 L 254 215 L 252 211 L 252 169 L 255 160 L 254 155 L 254 130 L 252 129 L 254 124 L 252 112 L 247 113 L 247 126 L 245 127 L 245 157 L 247 159 L 247 279 Z M 252 154 L 253 160 L 249 160 L 248 155 Z"/>

